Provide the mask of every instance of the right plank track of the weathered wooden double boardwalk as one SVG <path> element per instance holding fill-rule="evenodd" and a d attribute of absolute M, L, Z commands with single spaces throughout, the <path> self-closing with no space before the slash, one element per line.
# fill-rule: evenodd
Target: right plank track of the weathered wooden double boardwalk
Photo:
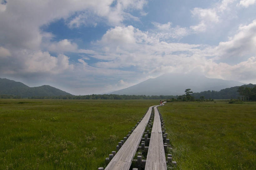
<path fill-rule="evenodd" d="M 163 134 L 157 106 L 154 107 L 154 123 L 151 132 L 145 170 L 167 170 L 163 147 Z"/>

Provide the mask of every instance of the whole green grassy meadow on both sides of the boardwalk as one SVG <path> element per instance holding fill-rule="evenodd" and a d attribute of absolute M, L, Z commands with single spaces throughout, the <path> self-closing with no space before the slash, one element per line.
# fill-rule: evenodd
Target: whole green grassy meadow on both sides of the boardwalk
<path fill-rule="evenodd" d="M 93 170 L 158 100 L 0 100 L 0 169 Z M 256 169 L 256 103 L 159 107 L 179 170 Z"/>

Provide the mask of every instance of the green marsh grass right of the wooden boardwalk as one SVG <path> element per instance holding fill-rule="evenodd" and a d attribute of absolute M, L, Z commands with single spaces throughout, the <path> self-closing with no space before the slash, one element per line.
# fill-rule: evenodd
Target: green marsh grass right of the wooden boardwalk
<path fill-rule="evenodd" d="M 159 107 L 179 170 L 256 169 L 256 103 L 172 102 Z"/>

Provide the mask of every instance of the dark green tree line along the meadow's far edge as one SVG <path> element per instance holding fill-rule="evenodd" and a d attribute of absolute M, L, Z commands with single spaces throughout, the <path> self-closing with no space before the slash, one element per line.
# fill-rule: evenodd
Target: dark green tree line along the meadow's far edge
<path fill-rule="evenodd" d="M 21 99 L 21 96 L 0 95 L 0 99 Z M 193 93 L 186 89 L 184 95 L 58 95 L 58 96 L 33 96 L 28 99 L 63 99 L 63 100 L 168 100 L 168 101 L 205 101 L 213 99 L 239 99 L 243 101 L 256 101 L 256 85 L 248 84 L 222 89 L 220 91 L 203 91 Z"/>

